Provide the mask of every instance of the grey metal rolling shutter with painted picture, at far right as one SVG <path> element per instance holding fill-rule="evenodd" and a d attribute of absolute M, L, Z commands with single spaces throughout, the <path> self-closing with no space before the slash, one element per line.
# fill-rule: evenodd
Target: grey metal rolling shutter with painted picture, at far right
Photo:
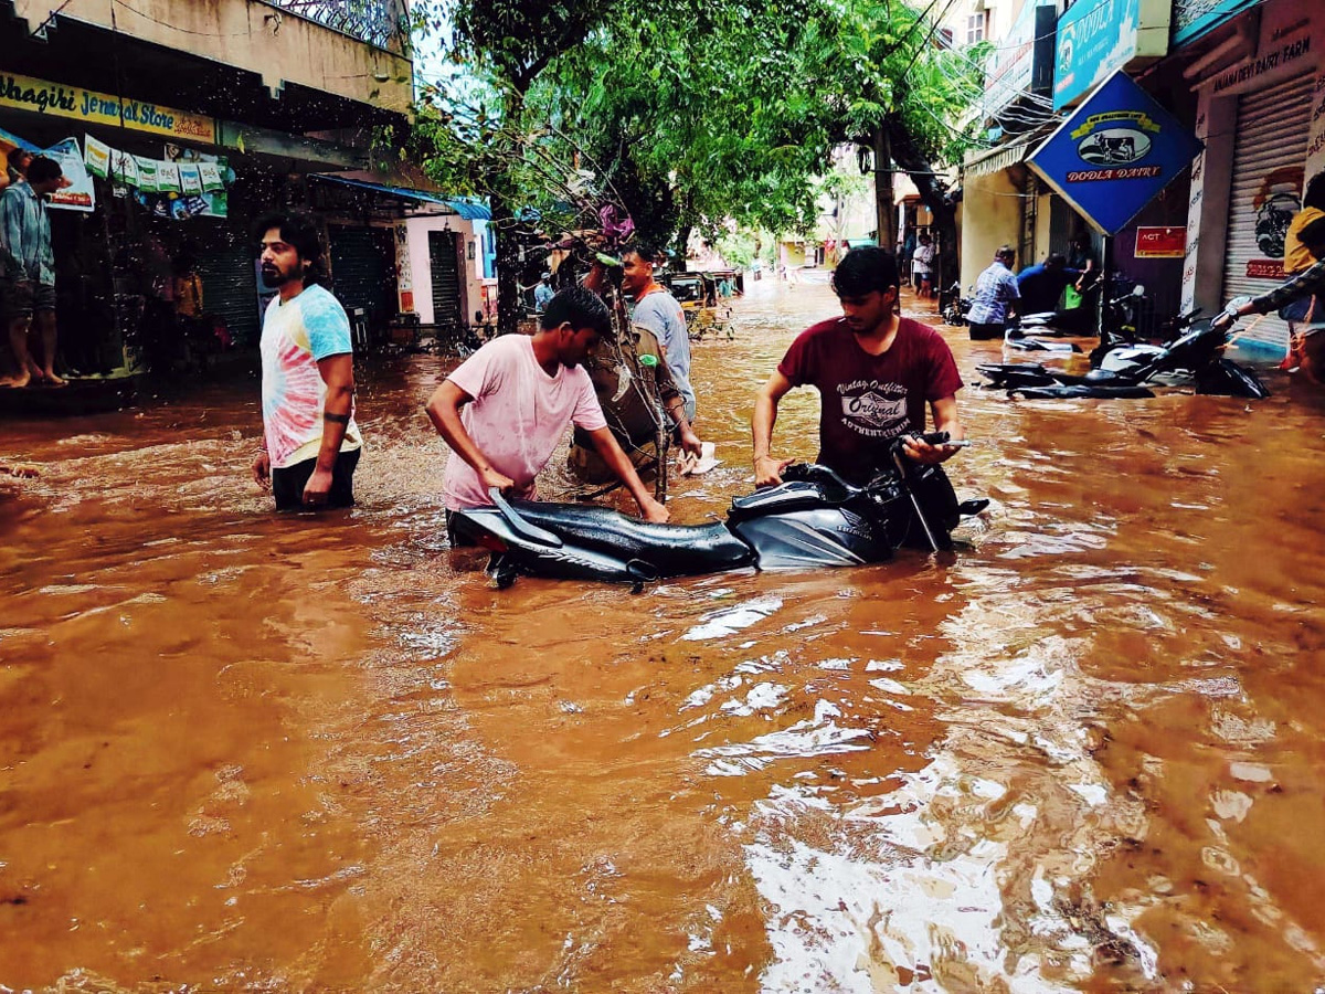
<path fill-rule="evenodd" d="M 1234 148 L 1232 188 L 1228 197 L 1228 244 L 1224 252 L 1223 298 L 1239 294 L 1257 296 L 1284 280 L 1281 269 L 1263 276 L 1248 276 L 1248 264 L 1269 269 L 1271 262 L 1283 262 L 1279 256 L 1267 254 L 1265 221 L 1271 211 L 1265 197 L 1288 192 L 1289 184 L 1275 183 L 1279 176 L 1297 170 L 1292 183 L 1292 196 L 1301 196 L 1301 168 L 1306 160 L 1306 130 L 1312 110 L 1312 76 L 1271 86 L 1260 93 L 1248 93 L 1238 101 L 1238 139 Z M 1285 208 L 1291 201 L 1280 199 Z M 1293 208 L 1296 209 L 1296 208 Z M 1260 224 L 1260 241 L 1257 241 Z M 1263 342 L 1281 349 L 1288 346 L 1288 325 L 1269 314 L 1247 334 L 1246 341 Z"/>

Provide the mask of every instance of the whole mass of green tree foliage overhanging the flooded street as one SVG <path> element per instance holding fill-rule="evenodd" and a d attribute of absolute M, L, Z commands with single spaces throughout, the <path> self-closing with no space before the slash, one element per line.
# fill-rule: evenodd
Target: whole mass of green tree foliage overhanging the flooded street
<path fill-rule="evenodd" d="M 954 122 L 982 78 L 935 42 L 935 4 L 427 0 L 420 24 L 464 72 L 424 87 L 419 146 L 511 221 L 572 224 L 599 197 L 684 245 L 731 223 L 811 231 L 833 147 L 886 135 L 950 219 L 937 167 L 970 147 Z"/>

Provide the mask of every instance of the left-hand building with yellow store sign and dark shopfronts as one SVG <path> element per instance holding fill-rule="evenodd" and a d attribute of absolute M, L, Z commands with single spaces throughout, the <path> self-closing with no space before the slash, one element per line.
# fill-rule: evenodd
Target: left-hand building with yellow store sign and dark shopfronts
<path fill-rule="evenodd" d="M 219 337 L 256 343 L 270 290 L 252 228 L 273 208 L 321 219 L 360 345 L 412 310 L 398 225 L 416 191 L 372 152 L 412 99 L 404 0 L 0 4 L 0 152 L 52 150 L 76 180 L 50 211 L 66 364 L 142 353 L 182 264 Z"/>

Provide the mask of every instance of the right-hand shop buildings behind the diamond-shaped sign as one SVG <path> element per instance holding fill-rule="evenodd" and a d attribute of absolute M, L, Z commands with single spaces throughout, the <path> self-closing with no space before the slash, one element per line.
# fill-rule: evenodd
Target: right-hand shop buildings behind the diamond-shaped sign
<path fill-rule="evenodd" d="M 1016 247 L 1028 264 L 1065 250 L 1077 235 L 1145 284 L 1157 314 L 1214 311 L 1284 280 L 1284 233 L 1306 182 L 1325 168 L 1325 8 L 1076 0 L 1065 9 L 1041 4 L 1032 17 L 1026 9 L 1034 3 L 1016 15 L 1007 41 L 1011 57 L 1023 53 L 1032 65 L 1000 70 L 995 50 L 983 111 L 990 147 L 963 163 L 962 281 L 971 282 L 999 244 Z M 1045 57 L 1036 46 L 1051 17 Z M 1203 151 L 1105 243 L 1026 159 L 1117 70 L 1190 129 Z M 1020 131 L 1010 134 L 1008 125 Z M 1240 341 L 1283 353 L 1287 335 L 1269 315 Z"/>

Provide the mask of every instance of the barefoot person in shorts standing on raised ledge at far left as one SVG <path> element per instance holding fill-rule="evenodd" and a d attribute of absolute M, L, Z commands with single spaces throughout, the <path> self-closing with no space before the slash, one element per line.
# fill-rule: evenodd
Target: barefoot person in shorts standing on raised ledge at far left
<path fill-rule="evenodd" d="M 56 375 L 56 254 L 50 245 L 46 197 L 61 187 L 60 163 L 38 155 L 28 164 L 26 180 L 0 195 L 0 298 L 17 371 L 0 386 L 25 387 L 36 380 L 62 387 Z M 41 362 L 28 347 L 36 329 Z"/>

